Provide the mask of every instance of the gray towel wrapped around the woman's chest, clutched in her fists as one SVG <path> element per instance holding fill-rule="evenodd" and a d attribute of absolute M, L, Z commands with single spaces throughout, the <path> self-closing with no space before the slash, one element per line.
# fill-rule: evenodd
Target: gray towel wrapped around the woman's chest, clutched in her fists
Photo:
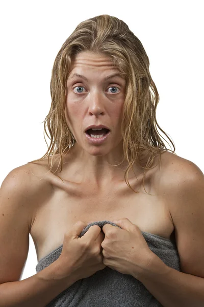
<path fill-rule="evenodd" d="M 110 221 L 99 221 L 87 225 L 80 234 L 83 236 L 89 227 L 98 225 L 101 229 L 105 224 L 119 227 Z M 121 227 L 119 227 L 121 229 Z M 142 232 L 149 249 L 160 257 L 163 262 L 181 272 L 180 260 L 175 240 Z M 36 272 L 45 269 L 59 258 L 62 247 L 58 247 L 47 256 L 41 258 Z M 122 274 L 106 267 L 95 274 L 78 280 L 61 292 L 47 307 L 161 307 L 161 303 L 132 275 Z"/>

